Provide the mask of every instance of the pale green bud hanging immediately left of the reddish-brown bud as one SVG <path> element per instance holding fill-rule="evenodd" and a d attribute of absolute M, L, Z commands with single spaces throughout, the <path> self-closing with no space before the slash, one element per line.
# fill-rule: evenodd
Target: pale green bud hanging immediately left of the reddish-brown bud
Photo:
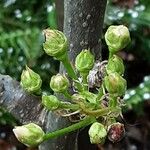
<path fill-rule="evenodd" d="M 104 125 L 98 122 L 93 123 L 89 129 L 89 136 L 92 144 L 103 144 L 107 136 Z"/>

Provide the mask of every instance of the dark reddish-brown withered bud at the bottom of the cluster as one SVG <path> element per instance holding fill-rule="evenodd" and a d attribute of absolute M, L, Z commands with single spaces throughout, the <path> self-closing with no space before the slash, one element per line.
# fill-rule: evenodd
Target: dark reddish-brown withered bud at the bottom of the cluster
<path fill-rule="evenodd" d="M 108 127 L 108 139 L 110 141 L 119 142 L 125 135 L 124 125 L 117 122 Z"/>

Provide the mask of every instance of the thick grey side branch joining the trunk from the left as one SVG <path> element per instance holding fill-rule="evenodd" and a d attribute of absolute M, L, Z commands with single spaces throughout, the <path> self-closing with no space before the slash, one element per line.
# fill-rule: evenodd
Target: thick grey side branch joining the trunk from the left
<path fill-rule="evenodd" d="M 0 75 L 0 106 L 8 110 L 20 123 L 35 122 L 45 127 L 47 112 L 40 97 L 29 95 L 19 82 L 10 76 Z"/>

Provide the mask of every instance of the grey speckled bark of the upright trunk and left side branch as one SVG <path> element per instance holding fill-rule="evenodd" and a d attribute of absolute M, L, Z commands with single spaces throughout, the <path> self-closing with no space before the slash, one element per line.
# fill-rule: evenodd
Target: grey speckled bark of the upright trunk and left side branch
<path fill-rule="evenodd" d="M 96 59 L 101 57 L 100 38 L 106 0 L 64 0 L 64 33 L 70 44 L 70 60 L 90 48 Z M 64 69 L 61 67 L 60 71 Z M 55 113 L 47 112 L 40 104 L 40 97 L 24 92 L 18 82 L 9 76 L 0 76 L 0 105 L 12 113 L 21 123 L 35 122 L 44 129 L 54 131 L 70 122 Z M 47 141 L 40 150 L 77 150 L 77 133 Z"/>

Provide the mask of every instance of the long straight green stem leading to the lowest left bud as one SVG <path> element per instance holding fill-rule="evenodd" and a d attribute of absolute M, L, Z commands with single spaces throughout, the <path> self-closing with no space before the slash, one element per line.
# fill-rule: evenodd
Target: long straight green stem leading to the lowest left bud
<path fill-rule="evenodd" d="M 82 121 L 80 121 L 76 124 L 73 124 L 69 127 L 66 127 L 66 128 L 63 128 L 63 129 L 45 134 L 45 136 L 43 138 L 43 141 L 46 141 L 46 140 L 49 140 L 49 139 L 52 139 L 52 138 L 56 138 L 56 137 L 62 136 L 64 134 L 67 134 L 69 132 L 75 131 L 77 129 L 86 127 L 86 126 L 92 124 L 95 121 L 96 121 L 95 117 L 87 117 L 86 119 L 84 119 L 84 120 L 82 120 Z"/>

